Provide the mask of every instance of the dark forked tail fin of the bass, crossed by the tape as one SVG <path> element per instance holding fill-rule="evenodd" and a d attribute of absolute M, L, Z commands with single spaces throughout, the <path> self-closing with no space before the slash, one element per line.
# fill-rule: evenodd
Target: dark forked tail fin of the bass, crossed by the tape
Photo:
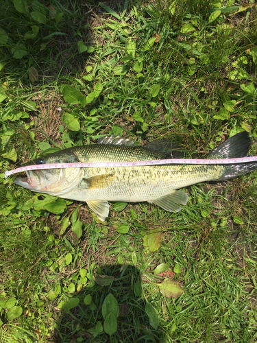
<path fill-rule="evenodd" d="M 218 147 L 215 147 L 209 152 L 205 158 L 207 159 L 221 159 L 221 158 L 238 158 L 246 157 L 251 145 L 251 139 L 248 132 L 239 132 L 233 137 L 225 141 Z M 224 165 L 222 176 L 217 181 L 228 180 L 229 178 L 236 178 L 243 174 L 250 173 L 257 168 L 256 162 L 238 163 L 235 165 Z"/>

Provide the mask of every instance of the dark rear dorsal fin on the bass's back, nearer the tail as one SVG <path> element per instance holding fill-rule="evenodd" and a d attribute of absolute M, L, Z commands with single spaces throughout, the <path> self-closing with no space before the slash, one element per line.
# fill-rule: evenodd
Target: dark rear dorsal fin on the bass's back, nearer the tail
<path fill-rule="evenodd" d="M 181 150 L 178 145 L 175 143 L 171 143 L 169 139 L 156 139 L 151 143 L 144 145 L 148 149 L 154 150 L 156 152 L 162 152 L 163 154 L 167 154 L 169 158 L 183 158 L 184 152 Z"/>

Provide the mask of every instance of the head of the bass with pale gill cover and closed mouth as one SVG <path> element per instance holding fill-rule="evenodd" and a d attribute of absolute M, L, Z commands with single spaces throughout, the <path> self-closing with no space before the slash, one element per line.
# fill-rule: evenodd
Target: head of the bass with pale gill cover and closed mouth
<path fill-rule="evenodd" d="M 68 149 L 67 149 L 68 150 Z M 61 150 L 47 156 L 36 158 L 36 160 L 25 163 L 25 165 L 43 165 L 51 163 L 77 163 L 74 154 Z M 52 196 L 63 196 L 71 191 L 82 179 L 82 168 L 58 168 L 58 169 L 36 169 L 27 170 L 26 176 L 14 178 L 16 185 L 40 193 L 48 193 Z"/>

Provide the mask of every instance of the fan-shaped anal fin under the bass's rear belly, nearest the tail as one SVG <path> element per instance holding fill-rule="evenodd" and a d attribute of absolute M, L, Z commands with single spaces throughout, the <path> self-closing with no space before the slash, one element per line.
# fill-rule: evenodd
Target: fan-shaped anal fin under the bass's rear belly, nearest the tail
<path fill-rule="evenodd" d="M 167 196 L 162 196 L 149 202 L 162 207 L 166 211 L 178 212 L 182 210 L 179 204 L 185 205 L 187 200 L 188 195 L 184 191 L 174 191 L 174 193 L 167 194 Z"/>

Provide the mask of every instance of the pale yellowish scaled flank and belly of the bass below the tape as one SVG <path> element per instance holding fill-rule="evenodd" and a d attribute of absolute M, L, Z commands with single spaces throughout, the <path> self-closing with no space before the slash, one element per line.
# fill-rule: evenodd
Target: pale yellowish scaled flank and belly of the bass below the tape
<path fill-rule="evenodd" d="M 88 168 L 84 169 L 84 178 L 77 187 L 62 198 L 78 201 L 151 201 L 175 189 L 215 180 L 221 175 L 222 168 L 220 165 Z"/>

